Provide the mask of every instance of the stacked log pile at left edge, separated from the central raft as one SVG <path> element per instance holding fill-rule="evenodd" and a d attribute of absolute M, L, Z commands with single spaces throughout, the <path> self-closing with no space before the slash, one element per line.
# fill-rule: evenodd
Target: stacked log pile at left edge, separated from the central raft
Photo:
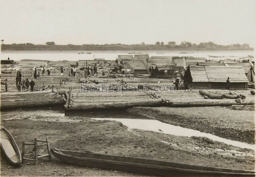
<path fill-rule="evenodd" d="M 1 93 L 1 109 L 64 104 L 63 97 L 54 91 Z"/>

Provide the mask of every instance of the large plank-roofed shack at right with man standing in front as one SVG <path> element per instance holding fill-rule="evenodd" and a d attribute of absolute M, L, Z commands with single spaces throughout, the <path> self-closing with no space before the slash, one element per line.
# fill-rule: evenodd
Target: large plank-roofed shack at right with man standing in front
<path fill-rule="evenodd" d="M 194 89 L 226 89 L 230 78 L 230 89 L 247 89 L 248 79 L 242 66 L 188 66 L 184 83 Z"/>

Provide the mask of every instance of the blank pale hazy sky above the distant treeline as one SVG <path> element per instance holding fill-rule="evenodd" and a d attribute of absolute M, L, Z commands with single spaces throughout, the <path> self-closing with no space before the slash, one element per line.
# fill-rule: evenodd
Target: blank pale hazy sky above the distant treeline
<path fill-rule="evenodd" d="M 5 44 L 217 44 L 256 39 L 256 0 L 0 0 Z"/>

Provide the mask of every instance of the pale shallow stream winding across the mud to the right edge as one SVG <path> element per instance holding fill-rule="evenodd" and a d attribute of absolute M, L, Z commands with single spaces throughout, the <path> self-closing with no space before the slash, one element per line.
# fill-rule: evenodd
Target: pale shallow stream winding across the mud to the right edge
<path fill-rule="evenodd" d="M 160 133 L 166 133 L 177 136 L 198 136 L 198 137 L 207 137 L 214 141 L 219 141 L 222 143 L 226 143 L 228 145 L 233 145 L 241 148 L 247 149 L 255 149 L 255 145 L 243 143 L 239 141 L 233 141 L 230 139 L 225 139 L 222 137 L 218 137 L 216 135 L 212 135 L 210 133 L 200 132 L 198 130 L 183 128 L 180 126 L 170 125 L 168 123 L 163 123 L 154 119 L 120 119 L 120 118 L 93 118 L 95 120 L 114 120 L 120 121 L 122 124 L 128 126 L 130 129 L 143 129 L 148 131 L 156 131 Z"/>

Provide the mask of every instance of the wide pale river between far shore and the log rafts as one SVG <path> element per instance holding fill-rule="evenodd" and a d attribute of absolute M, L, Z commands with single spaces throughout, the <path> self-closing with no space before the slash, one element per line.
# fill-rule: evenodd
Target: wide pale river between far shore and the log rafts
<path fill-rule="evenodd" d="M 84 52 L 84 54 L 78 54 Z M 203 57 L 206 59 L 218 59 L 211 56 L 219 56 L 223 58 L 238 59 L 245 56 L 253 56 L 253 50 L 225 50 L 225 51 L 4 51 L 0 53 L 0 59 L 6 60 L 94 60 L 94 58 L 104 58 L 105 60 L 115 60 L 118 55 L 132 55 L 128 54 L 136 52 L 136 54 L 149 54 L 149 56 L 193 56 Z M 91 54 L 86 54 L 91 53 Z"/>

